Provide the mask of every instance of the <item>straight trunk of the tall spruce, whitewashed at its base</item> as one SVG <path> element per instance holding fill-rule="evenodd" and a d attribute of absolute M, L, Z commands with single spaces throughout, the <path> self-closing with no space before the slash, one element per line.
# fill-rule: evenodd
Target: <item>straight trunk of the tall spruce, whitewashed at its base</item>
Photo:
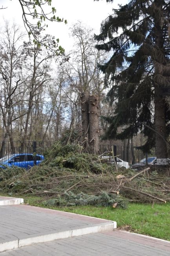
<path fill-rule="evenodd" d="M 163 28 L 161 27 L 161 10 L 163 8 L 163 2 L 156 0 L 155 6 L 155 131 L 166 139 L 166 105 L 165 99 L 161 93 L 161 87 L 164 86 L 164 71 L 162 66 L 166 65 L 165 55 L 163 52 Z M 161 138 L 157 133 L 155 133 L 155 153 L 157 156 L 157 165 L 162 165 L 167 163 L 167 147 L 163 138 Z"/>

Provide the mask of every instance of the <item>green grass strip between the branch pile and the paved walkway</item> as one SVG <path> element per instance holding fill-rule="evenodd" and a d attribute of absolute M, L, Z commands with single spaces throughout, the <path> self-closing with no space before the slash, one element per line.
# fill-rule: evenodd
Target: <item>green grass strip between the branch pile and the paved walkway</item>
<path fill-rule="evenodd" d="M 42 198 L 28 196 L 23 198 L 26 204 L 44 207 Z M 170 203 L 153 205 L 130 203 L 126 210 L 93 206 L 49 208 L 117 221 L 117 228 L 170 241 Z"/>

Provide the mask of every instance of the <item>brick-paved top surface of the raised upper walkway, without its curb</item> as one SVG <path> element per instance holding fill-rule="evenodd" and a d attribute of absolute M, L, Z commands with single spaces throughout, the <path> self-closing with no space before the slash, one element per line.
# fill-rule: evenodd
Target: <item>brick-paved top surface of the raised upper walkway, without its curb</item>
<path fill-rule="evenodd" d="M 47 234 L 82 230 L 82 227 L 91 229 L 98 224 L 103 226 L 109 224 L 109 221 L 102 219 L 27 205 L 0 206 L 0 216 L 0 243 L 4 243 L 7 239 L 21 241 Z M 28 242 L 24 242 L 24 245 Z"/>

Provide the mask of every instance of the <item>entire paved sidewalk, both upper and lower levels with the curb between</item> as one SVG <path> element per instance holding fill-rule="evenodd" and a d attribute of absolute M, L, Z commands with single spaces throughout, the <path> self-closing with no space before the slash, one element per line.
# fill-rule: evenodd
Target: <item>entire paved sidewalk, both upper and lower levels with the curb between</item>
<path fill-rule="evenodd" d="M 115 227 L 104 219 L 10 200 L 0 206 L 0 256 L 170 256 L 170 242 Z"/>

